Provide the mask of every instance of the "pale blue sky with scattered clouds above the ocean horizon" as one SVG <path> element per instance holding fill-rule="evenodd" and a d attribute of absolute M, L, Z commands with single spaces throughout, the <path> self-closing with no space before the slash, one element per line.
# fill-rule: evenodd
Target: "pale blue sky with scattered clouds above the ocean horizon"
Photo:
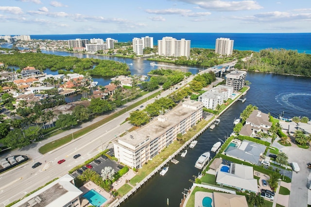
<path fill-rule="evenodd" d="M 311 32 L 311 0 L 1 0 L 1 34 Z"/>

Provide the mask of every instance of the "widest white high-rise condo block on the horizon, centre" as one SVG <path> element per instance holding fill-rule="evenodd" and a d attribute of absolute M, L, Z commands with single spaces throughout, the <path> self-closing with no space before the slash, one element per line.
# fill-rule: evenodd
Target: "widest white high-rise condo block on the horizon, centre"
<path fill-rule="evenodd" d="M 163 37 L 157 41 L 158 54 L 160 56 L 190 57 L 190 40 L 177 40 L 173 37 Z"/>

